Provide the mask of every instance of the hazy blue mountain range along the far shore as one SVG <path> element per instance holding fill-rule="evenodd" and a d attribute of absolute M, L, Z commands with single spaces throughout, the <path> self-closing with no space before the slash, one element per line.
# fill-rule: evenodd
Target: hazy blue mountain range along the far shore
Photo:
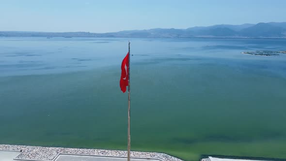
<path fill-rule="evenodd" d="M 286 22 L 213 25 L 188 29 L 149 29 L 108 33 L 91 32 L 0 32 L 0 36 L 32 37 L 182 37 L 182 38 L 286 38 Z"/>

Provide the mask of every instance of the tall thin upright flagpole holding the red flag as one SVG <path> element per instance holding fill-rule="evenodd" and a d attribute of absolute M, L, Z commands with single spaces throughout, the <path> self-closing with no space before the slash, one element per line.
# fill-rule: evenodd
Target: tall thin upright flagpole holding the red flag
<path fill-rule="evenodd" d="M 130 41 L 128 41 L 128 145 L 127 145 L 127 161 L 130 161 Z"/>

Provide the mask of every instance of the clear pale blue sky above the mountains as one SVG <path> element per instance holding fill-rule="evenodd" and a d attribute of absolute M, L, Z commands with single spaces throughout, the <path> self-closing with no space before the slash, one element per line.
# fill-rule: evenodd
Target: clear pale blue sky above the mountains
<path fill-rule="evenodd" d="M 118 32 L 285 22 L 286 0 L 0 0 L 0 31 Z"/>

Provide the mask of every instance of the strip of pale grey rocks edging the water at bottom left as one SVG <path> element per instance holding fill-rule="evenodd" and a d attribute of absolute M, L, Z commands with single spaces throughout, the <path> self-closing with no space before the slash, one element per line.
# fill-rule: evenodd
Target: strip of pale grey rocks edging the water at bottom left
<path fill-rule="evenodd" d="M 0 145 L 0 150 L 22 151 L 22 153 L 16 157 L 16 159 L 18 160 L 53 161 L 59 154 L 127 157 L 127 151 L 122 150 L 43 147 L 25 145 Z M 157 152 L 131 151 L 131 158 L 158 159 L 160 161 L 182 161 L 173 156 Z"/>

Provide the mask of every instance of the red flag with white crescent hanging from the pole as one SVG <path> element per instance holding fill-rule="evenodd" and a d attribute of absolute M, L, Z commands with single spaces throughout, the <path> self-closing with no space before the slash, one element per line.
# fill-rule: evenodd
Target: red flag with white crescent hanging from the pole
<path fill-rule="evenodd" d="M 126 86 L 128 86 L 129 79 L 129 52 L 123 59 L 121 64 L 121 78 L 120 78 L 120 88 L 123 93 L 126 92 Z"/>

